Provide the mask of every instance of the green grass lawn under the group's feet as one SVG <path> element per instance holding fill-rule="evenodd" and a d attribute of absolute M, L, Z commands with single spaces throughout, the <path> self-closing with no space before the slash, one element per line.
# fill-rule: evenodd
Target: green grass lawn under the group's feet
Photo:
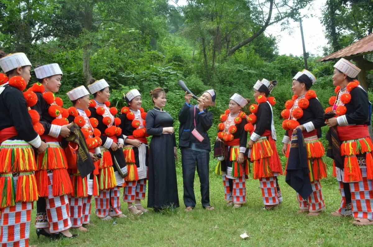
<path fill-rule="evenodd" d="M 350 223 L 352 218 L 337 218 L 330 212 L 338 209 L 340 195 L 335 178 L 322 181 L 326 210 L 319 217 L 298 215 L 294 190 L 280 176 L 279 183 L 284 201 L 275 210 L 262 210 L 259 181 L 246 180 L 247 203 L 240 209 L 226 207 L 222 179 L 210 168 L 210 201 L 214 211 L 202 208 L 199 193 L 200 183 L 196 174 L 195 192 L 197 207 L 184 212 L 181 169 L 178 167 L 178 188 L 181 207 L 175 211 L 154 213 L 149 210 L 141 216 L 129 215 L 123 203 L 127 219 L 118 219 L 116 224 L 101 221 L 92 205 L 89 232 L 72 230 L 79 234 L 74 240 L 50 240 L 44 236 L 37 239 L 34 217 L 31 227 L 31 245 L 37 246 L 373 246 L 373 227 L 360 227 Z M 330 167 L 330 166 L 329 166 Z M 146 200 L 143 204 L 146 206 Z M 242 240 L 239 235 L 247 232 L 251 237 Z"/>

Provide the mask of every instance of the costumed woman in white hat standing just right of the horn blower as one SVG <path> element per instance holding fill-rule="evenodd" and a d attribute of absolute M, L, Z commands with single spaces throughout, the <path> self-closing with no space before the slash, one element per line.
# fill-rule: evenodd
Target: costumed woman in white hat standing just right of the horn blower
<path fill-rule="evenodd" d="M 216 174 L 223 178 L 225 201 L 227 206 L 239 208 L 246 203 L 245 179 L 249 173 L 247 157 L 247 124 L 246 114 L 241 111 L 248 104 L 248 100 L 239 94 L 233 94 L 229 101 L 229 109 L 220 116 L 217 141 L 223 141 L 224 156 L 218 157 Z"/>

